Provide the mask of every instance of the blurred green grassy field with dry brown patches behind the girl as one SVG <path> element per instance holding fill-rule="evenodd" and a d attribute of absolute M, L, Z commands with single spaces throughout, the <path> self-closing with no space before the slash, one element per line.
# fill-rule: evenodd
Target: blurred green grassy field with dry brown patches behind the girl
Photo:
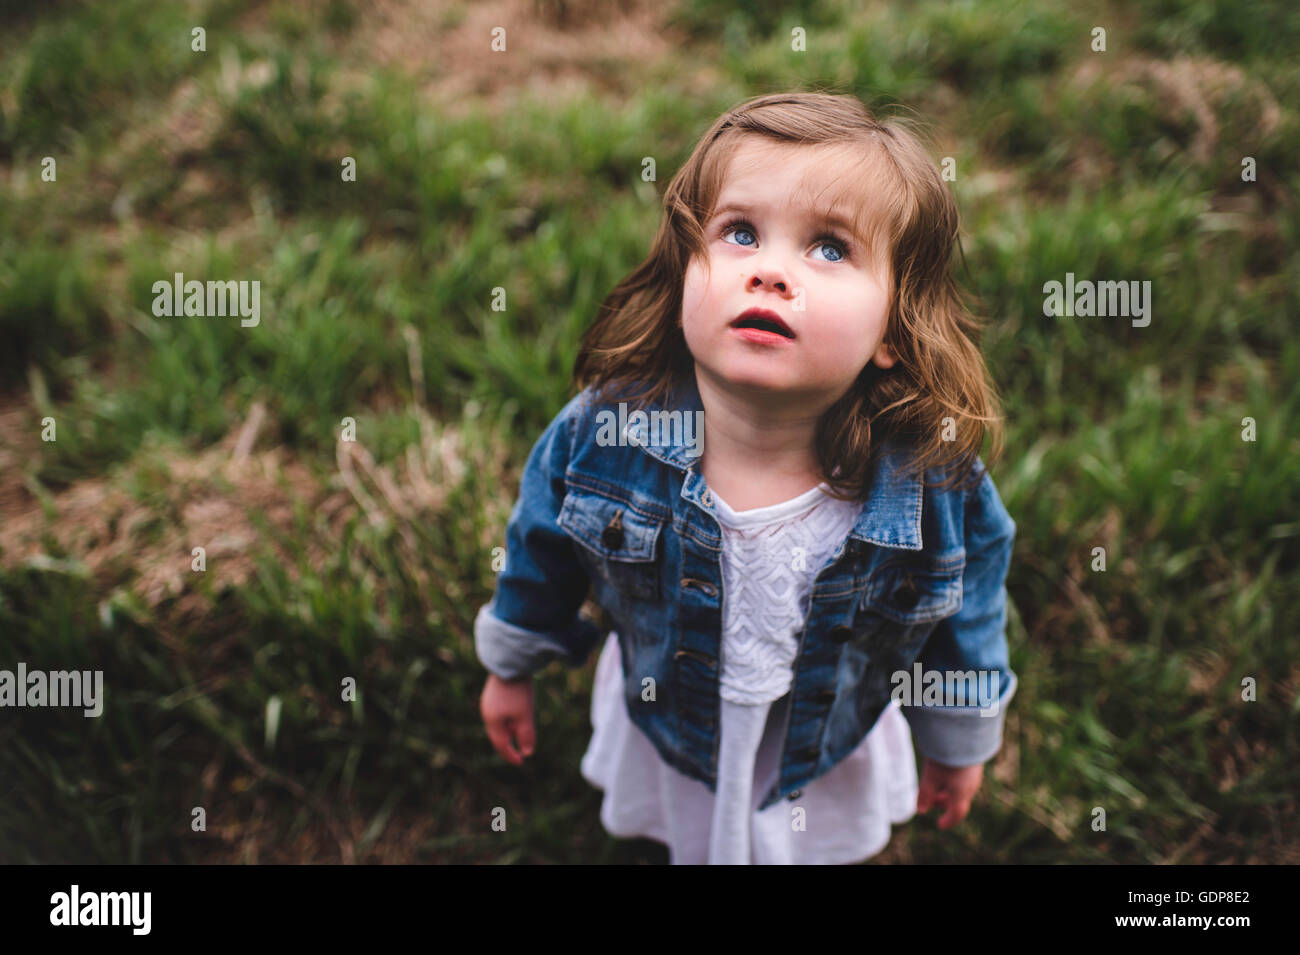
<path fill-rule="evenodd" d="M 1018 524 L 1004 748 L 872 861 L 1300 861 L 1300 9 L 612 6 L 0 5 L 0 669 L 105 685 L 0 711 L 0 860 L 664 861 L 577 772 L 594 657 L 515 769 L 471 624 L 694 139 L 831 88 L 956 160 Z M 260 324 L 155 316 L 177 272 Z M 1066 273 L 1150 324 L 1044 316 Z"/>

